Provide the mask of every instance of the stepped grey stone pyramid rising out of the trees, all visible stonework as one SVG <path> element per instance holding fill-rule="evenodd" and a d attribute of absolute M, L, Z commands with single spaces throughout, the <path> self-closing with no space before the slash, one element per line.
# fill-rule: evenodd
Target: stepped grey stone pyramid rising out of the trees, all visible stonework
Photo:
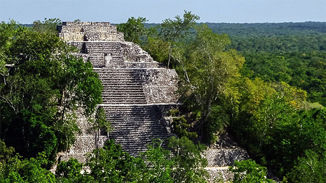
<path fill-rule="evenodd" d="M 179 105 L 178 75 L 174 69 L 161 66 L 139 45 L 124 41 L 123 33 L 109 22 L 63 22 L 57 28 L 59 37 L 78 48 L 76 56 L 92 62 L 104 88 L 99 106 L 113 127 L 109 135 L 102 131 L 96 144 L 96 132 L 89 131 L 91 124 L 80 116 L 82 132 L 67 152 L 59 153 L 61 160 L 74 157 L 85 162 L 85 153 L 97 145 L 103 146 L 108 136 L 137 156 L 153 138 L 167 139 L 172 135 L 171 118 L 166 114 Z M 203 153 L 209 161 L 209 181 L 219 175 L 226 180 L 232 176 L 227 172 L 228 166 L 249 157 L 236 144 L 222 143 Z"/>

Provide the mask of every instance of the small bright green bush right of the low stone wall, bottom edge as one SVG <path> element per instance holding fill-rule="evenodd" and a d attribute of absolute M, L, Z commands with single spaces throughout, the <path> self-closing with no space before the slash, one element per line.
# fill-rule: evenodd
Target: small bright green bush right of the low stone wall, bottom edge
<path fill-rule="evenodd" d="M 234 183 L 273 182 L 266 178 L 267 168 L 256 164 L 251 159 L 234 161 L 234 165 L 229 167 L 229 171 L 234 173 Z"/>

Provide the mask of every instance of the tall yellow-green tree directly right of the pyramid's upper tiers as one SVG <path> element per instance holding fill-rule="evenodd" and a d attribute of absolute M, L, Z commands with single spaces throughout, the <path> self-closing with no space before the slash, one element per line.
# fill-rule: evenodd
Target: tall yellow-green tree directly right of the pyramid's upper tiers
<path fill-rule="evenodd" d="M 174 48 L 172 56 L 185 86 L 181 88 L 183 95 L 190 101 L 186 103 L 200 111 L 196 125 L 203 137 L 212 104 L 221 101 L 227 84 L 240 77 L 244 58 L 235 50 L 226 50 L 230 43 L 226 34 L 213 33 L 205 24 L 196 30 L 195 40 Z"/>

